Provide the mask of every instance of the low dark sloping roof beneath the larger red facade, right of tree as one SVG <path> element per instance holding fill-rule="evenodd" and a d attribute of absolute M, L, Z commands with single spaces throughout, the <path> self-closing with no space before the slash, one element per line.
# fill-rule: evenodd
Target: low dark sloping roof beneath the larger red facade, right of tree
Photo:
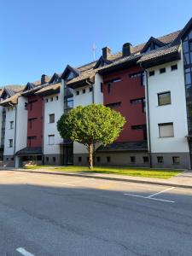
<path fill-rule="evenodd" d="M 146 141 L 141 142 L 127 142 L 127 143 L 112 143 L 106 147 L 100 146 L 96 149 L 97 152 L 108 151 L 148 151 L 148 143 Z"/>

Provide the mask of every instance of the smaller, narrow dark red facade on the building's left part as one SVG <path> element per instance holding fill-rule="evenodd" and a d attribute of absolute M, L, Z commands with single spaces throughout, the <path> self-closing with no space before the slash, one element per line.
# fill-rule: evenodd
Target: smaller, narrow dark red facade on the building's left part
<path fill-rule="evenodd" d="M 28 97 L 27 147 L 42 147 L 43 103 L 40 96 Z"/>

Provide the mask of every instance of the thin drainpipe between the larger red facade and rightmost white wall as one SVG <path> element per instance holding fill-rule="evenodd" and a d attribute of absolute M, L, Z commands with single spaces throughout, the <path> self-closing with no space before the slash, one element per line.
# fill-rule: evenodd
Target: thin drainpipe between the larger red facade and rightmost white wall
<path fill-rule="evenodd" d="M 141 64 L 141 67 L 142 64 Z M 146 100 L 147 100 L 147 113 L 148 113 L 148 116 L 147 116 L 147 119 L 148 119 L 148 154 L 149 154 L 149 165 L 150 165 L 150 168 L 152 168 L 153 166 L 153 160 L 152 160 L 152 155 L 151 155 L 151 135 L 150 135 L 150 114 L 149 114 L 149 100 L 148 100 L 148 71 L 143 67 L 144 69 L 144 72 L 145 72 L 145 77 L 146 77 Z"/>

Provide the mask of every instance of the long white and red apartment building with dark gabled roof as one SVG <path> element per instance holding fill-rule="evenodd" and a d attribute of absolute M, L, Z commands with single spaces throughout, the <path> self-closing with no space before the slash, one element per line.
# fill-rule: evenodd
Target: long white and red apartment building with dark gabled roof
<path fill-rule="evenodd" d="M 189 20 L 180 31 L 135 46 L 125 43 L 115 54 L 104 47 L 97 61 L 67 65 L 61 74 L 43 75 L 22 92 L 2 96 L 4 160 L 16 166 L 26 161 L 86 165 L 87 149 L 63 140 L 56 122 L 79 105 L 102 103 L 127 122 L 114 143 L 95 145 L 96 165 L 190 168 L 191 63 Z"/>

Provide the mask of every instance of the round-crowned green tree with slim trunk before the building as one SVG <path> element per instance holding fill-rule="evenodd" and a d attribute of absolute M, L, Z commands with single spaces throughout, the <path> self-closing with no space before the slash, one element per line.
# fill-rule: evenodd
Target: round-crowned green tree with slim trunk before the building
<path fill-rule="evenodd" d="M 61 115 L 57 130 L 62 138 L 82 143 L 89 151 L 90 169 L 93 167 L 94 144 L 113 143 L 125 125 L 125 118 L 117 111 L 102 104 L 73 108 Z"/>

